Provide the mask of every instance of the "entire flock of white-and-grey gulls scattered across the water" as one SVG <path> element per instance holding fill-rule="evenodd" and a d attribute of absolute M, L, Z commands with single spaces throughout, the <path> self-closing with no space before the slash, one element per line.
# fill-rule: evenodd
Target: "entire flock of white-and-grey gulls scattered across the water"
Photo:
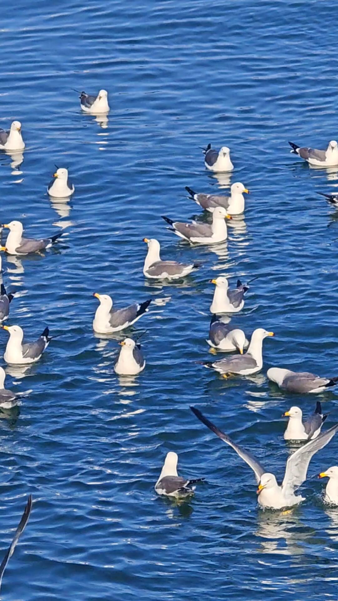
<path fill-rule="evenodd" d="M 109 112 L 108 93 L 100 90 L 97 96 L 91 96 L 84 91 L 79 92 L 80 106 L 83 112 L 95 115 L 106 115 Z M 316 150 L 308 147 L 299 147 L 289 142 L 292 153 L 297 154 L 312 166 L 337 166 L 338 145 L 336 141 L 328 144 L 327 150 Z M 23 151 L 25 142 L 22 138 L 22 126 L 19 121 L 13 121 L 10 130 L 0 130 L 0 149 L 10 152 Z M 230 149 L 223 146 L 215 150 L 210 144 L 203 148 L 204 165 L 206 169 L 213 172 L 232 172 L 234 169 L 230 158 Z M 75 186 L 69 178 L 66 168 L 55 171 L 53 179 L 49 184 L 48 194 L 52 198 L 69 199 L 75 192 Z M 250 194 L 249 190 L 241 183 L 236 182 L 230 188 L 230 195 L 204 194 L 195 192 L 188 186 L 186 191 L 189 197 L 208 213 L 211 213 L 211 222 L 201 223 L 192 221 L 189 223 L 173 221 L 167 216 L 162 216 L 180 239 L 195 245 L 213 245 L 224 242 L 227 239 L 227 220 L 242 215 L 245 210 L 244 194 Z M 336 194 L 324 194 L 331 203 L 338 204 Z M 8 228 L 9 233 L 5 245 L 0 250 L 9 255 L 29 255 L 49 249 L 60 238 L 62 233 L 54 234 L 47 238 L 32 239 L 23 236 L 23 224 L 20 221 L 11 221 L 3 224 L 1 230 Z M 185 278 L 201 266 L 200 261 L 194 263 L 179 263 L 174 260 L 162 260 L 160 256 L 160 244 L 156 239 L 144 238 L 147 244 L 147 254 L 144 260 L 143 273 L 146 278 L 158 280 L 177 280 Z M 0 255 L 0 269 L 2 267 Z M 255 278 L 253 278 L 255 279 Z M 252 280 L 251 280 L 252 281 Z M 262 370 L 263 367 L 263 340 L 273 337 L 274 333 L 264 328 L 257 328 L 251 334 L 250 340 L 245 332 L 238 326 L 230 325 L 232 314 L 239 313 L 244 307 L 247 284 L 242 284 L 238 279 L 235 288 L 229 287 L 226 277 L 219 276 L 210 279 L 210 284 L 215 285 L 214 297 L 210 305 L 209 338 L 206 342 L 210 352 L 214 355 L 218 352 L 234 353 L 226 358 L 215 361 L 202 362 L 204 367 L 210 368 L 229 379 L 236 376 L 249 376 Z M 93 330 L 97 334 L 112 334 L 121 332 L 134 325 L 144 314 L 149 311 L 152 299 L 124 308 L 115 308 L 111 296 L 108 294 L 93 293 L 99 301 L 93 319 Z M 37 362 L 45 352 L 52 336 L 49 329 L 41 333 L 37 340 L 32 342 L 23 341 L 24 333 L 18 325 L 7 326 L 4 322 L 10 316 L 10 304 L 14 294 L 7 293 L 5 285 L 0 289 L 0 327 L 8 332 L 9 338 L 4 352 L 4 360 L 10 365 L 27 365 Z M 140 337 L 139 337 L 140 338 Z M 119 376 L 135 376 L 146 367 L 139 338 L 134 340 L 126 337 L 120 341 L 121 350 L 114 365 L 114 370 Z M 267 377 L 274 382 L 282 391 L 296 394 L 319 394 L 338 383 L 338 377 L 321 377 L 312 373 L 297 373 L 280 367 L 272 367 L 267 372 Z M 0 408 L 10 409 L 17 403 L 16 395 L 5 388 L 5 371 L 0 367 Z M 306 480 L 307 468 L 313 455 L 330 442 L 338 431 L 338 424 L 325 432 L 321 432 L 327 415 L 322 413 L 321 403 L 317 401 L 315 411 L 306 421 L 303 421 L 303 413 L 300 407 L 292 406 L 284 416 L 289 418 L 284 439 L 286 441 L 297 441 L 301 445 L 290 454 L 286 462 L 286 470 L 281 485 L 278 485 L 275 475 L 266 471 L 253 455 L 245 451 L 233 442 L 228 435 L 223 433 L 196 407 L 191 407 L 194 415 L 223 442 L 233 448 L 239 457 L 253 470 L 258 489 L 258 502 L 262 507 L 281 509 L 292 507 L 304 501 L 300 495 L 296 495 L 298 487 Z M 195 490 L 195 484 L 204 478 L 183 478 L 177 474 L 178 457 L 172 451 L 165 457 L 165 462 L 155 484 L 158 495 L 165 495 L 182 499 L 191 496 Z M 329 481 L 325 490 L 324 501 L 338 505 L 338 466 L 328 468 L 319 474 L 319 478 L 328 477 Z M 31 513 L 32 498 L 29 496 L 22 519 L 20 520 L 16 534 L 7 554 L 0 566 L 0 586 L 2 575 L 8 560 L 14 552 L 20 534 L 28 522 Z"/>

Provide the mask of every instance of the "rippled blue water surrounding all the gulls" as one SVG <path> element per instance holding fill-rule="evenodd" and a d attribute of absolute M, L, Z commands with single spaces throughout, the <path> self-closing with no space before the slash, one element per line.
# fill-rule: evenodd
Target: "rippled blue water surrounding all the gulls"
<path fill-rule="evenodd" d="M 337 213 L 316 194 L 334 190 L 338 169 L 310 169 L 287 144 L 338 136 L 336 17 L 327 0 L 2 7 L 0 126 L 22 121 L 26 150 L 19 166 L 0 156 L 0 221 L 65 233 L 45 257 L 4 259 L 17 291 L 9 323 L 28 340 L 46 325 L 61 334 L 34 367 L 7 368 L 22 398 L 20 415 L 0 422 L 1 549 L 29 493 L 34 506 L 4 599 L 337 599 L 338 510 L 315 476 L 338 462 L 338 441 L 310 463 L 301 507 L 263 512 L 250 468 L 189 410 L 281 479 L 281 413 L 312 412 L 316 398 L 281 394 L 266 368 L 338 375 Z M 72 88 L 106 88 L 108 121 L 82 115 Z M 204 170 L 209 142 L 229 145 L 231 182 L 251 195 L 227 245 L 189 248 L 161 215 L 207 219 L 185 186 L 228 189 Z M 46 194 L 54 163 L 75 183 L 68 204 Z M 203 267 L 182 285 L 145 281 L 144 236 Z M 262 373 L 229 382 L 197 363 L 211 358 L 207 282 L 221 274 L 259 276 L 236 323 L 276 334 Z M 94 291 L 120 307 L 153 299 L 134 328 L 147 330 L 135 380 L 114 374 L 119 338 L 93 334 Z M 1 353 L 6 342 L 0 332 Z M 328 426 L 337 400 L 321 395 Z M 155 495 L 169 450 L 180 473 L 206 477 L 191 502 Z"/>

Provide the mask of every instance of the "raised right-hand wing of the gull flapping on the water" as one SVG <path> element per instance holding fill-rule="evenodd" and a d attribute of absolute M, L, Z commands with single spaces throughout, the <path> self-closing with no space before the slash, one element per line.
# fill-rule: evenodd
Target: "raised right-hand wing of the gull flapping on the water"
<path fill-rule="evenodd" d="M 292 495 L 303 484 L 313 455 L 325 447 L 337 431 L 338 424 L 320 434 L 313 441 L 307 442 L 287 458 L 284 480 L 281 484 L 285 496 Z"/>

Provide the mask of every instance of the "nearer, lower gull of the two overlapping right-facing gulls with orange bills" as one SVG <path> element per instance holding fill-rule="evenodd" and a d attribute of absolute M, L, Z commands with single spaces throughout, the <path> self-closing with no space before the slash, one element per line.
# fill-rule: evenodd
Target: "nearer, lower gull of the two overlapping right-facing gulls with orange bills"
<path fill-rule="evenodd" d="M 162 219 L 166 221 L 172 228 L 176 236 L 188 240 L 188 242 L 196 242 L 198 244 L 215 244 L 224 242 L 228 237 L 227 224 L 224 219 L 231 219 L 227 214 L 226 209 L 217 207 L 212 213 L 212 224 L 200 224 L 192 221 L 191 224 L 185 224 L 180 221 L 171 221 L 168 217 L 162 215 Z"/>

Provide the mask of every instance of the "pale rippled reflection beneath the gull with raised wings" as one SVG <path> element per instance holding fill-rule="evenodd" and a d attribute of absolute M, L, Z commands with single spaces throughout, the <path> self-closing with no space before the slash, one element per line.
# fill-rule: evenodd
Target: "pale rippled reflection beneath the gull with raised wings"
<path fill-rule="evenodd" d="M 303 542 L 315 532 L 300 522 L 294 509 L 281 513 L 261 511 L 257 514 L 257 525 L 254 535 L 262 539 L 260 553 L 303 555 Z"/>

